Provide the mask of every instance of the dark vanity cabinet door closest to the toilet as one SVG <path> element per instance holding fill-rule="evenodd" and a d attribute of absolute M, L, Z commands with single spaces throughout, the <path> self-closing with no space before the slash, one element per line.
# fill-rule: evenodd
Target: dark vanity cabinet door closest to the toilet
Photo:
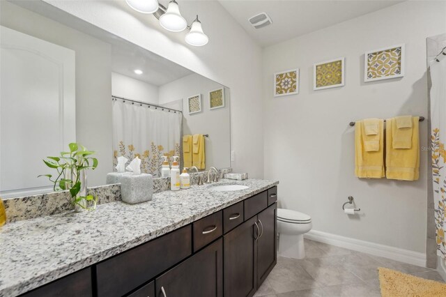
<path fill-rule="evenodd" d="M 257 287 L 263 283 L 277 263 L 277 204 L 272 204 L 257 215 L 260 236 L 257 240 Z"/>

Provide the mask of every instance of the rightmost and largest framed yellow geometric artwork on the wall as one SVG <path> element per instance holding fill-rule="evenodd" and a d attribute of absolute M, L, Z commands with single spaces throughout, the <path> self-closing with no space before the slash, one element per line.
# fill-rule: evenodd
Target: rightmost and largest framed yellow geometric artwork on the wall
<path fill-rule="evenodd" d="M 367 52 L 364 56 L 364 82 L 402 77 L 404 75 L 403 56 L 404 45 Z"/>

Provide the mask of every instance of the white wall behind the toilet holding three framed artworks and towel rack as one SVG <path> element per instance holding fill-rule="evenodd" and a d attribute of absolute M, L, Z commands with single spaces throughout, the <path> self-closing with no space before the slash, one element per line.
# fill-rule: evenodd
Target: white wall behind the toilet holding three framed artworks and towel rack
<path fill-rule="evenodd" d="M 265 177 L 278 178 L 279 201 L 308 213 L 313 229 L 424 253 L 427 152 L 420 180 L 354 176 L 356 119 L 427 116 L 426 37 L 445 31 L 445 2 L 405 1 L 263 53 Z M 398 17 L 395 17 L 395 16 Z M 364 52 L 406 43 L 406 75 L 364 83 Z M 346 85 L 313 91 L 313 63 L 346 57 Z M 273 98 L 272 73 L 300 68 L 300 93 Z M 427 123 L 420 144 L 427 146 Z M 355 197 L 361 215 L 341 211 Z"/>

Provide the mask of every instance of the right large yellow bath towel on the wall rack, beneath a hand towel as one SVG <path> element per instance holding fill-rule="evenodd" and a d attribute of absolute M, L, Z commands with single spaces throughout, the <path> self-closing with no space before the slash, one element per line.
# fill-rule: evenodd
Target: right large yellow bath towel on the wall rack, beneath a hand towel
<path fill-rule="evenodd" d="M 394 125 L 395 119 L 387 119 L 387 129 L 385 132 L 386 155 L 385 155 L 385 176 L 390 179 L 401 181 L 416 181 L 420 171 L 420 138 L 418 116 L 412 118 L 412 142 L 410 148 L 394 148 Z M 397 128 L 396 128 L 397 129 Z"/>

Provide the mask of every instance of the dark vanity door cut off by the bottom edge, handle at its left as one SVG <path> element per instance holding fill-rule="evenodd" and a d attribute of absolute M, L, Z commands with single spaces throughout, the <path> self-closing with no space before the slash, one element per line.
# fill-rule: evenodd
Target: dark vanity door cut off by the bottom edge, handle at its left
<path fill-rule="evenodd" d="M 157 297 L 222 297 L 222 238 L 155 280 Z"/>

